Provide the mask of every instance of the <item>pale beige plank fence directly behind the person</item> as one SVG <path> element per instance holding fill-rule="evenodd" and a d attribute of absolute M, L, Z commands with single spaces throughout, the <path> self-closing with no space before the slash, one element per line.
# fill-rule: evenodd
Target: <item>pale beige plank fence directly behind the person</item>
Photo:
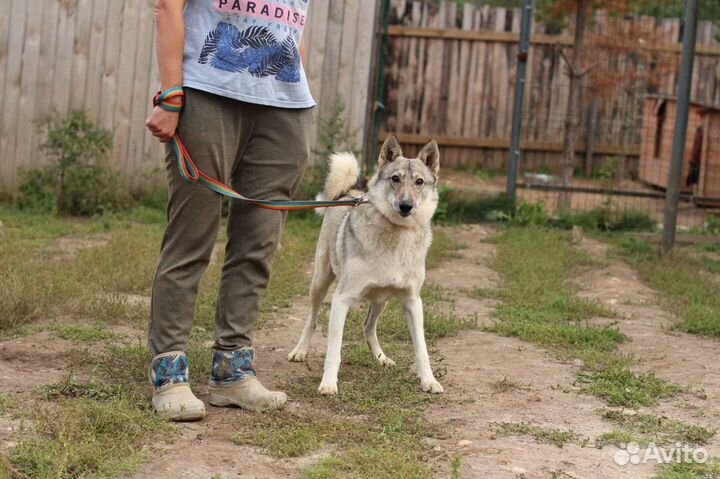
<path fill-rule="evenodd" d="M 305 32 L 315 117 L 346 104 L 361 144 L 375 0 L 313 0 Z M 133 190 L 162 183 L 163 149 L 146 131 L 158 88 L 154 0 L 0 0 L 0 192 L 47 161 L 37 124 L 84 109 L 113 131 L 112 165 Z M 316 122 L 317 125 L 317 122 Z M 317 138 L 316 129 L 313 138 Z"/>

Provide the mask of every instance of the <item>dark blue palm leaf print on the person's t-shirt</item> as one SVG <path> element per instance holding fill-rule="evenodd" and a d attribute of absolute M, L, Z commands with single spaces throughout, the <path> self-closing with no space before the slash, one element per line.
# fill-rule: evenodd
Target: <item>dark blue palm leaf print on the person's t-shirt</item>
<path fill-rule="evenodd" d="M 220 22 L 208 33 L 198 63 L 255 77 L 273 76 L 285 83 L 300 82 L 300 53 L 291 36 L 279 43 L 267 27 L 252 26 L 240 32 Z"/>

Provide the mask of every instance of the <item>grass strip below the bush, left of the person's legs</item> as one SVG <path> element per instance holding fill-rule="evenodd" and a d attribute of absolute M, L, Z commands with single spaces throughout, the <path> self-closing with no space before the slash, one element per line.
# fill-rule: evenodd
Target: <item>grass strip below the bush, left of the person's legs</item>
<path fill-rule="evenodd" d="M 23 216 L 3 208 L 0 218 L 5 223 L 0 242 L 0 332 L 59 316 L 144 323 L 145 308 L 128 304 L 119 293 L 149 292 L 161 225 L 104 217 Z M 98 232 L 103 236 L 95 236 Z M 74 256 L 59 254 L 57 239 L 67 235 L 96 241 Z"/>

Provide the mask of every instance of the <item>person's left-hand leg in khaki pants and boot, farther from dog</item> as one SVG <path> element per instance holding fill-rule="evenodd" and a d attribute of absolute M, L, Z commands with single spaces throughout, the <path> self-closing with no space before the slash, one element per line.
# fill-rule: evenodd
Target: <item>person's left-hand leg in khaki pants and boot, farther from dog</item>
<path fill-rule="evenodd" d="M 228 176 L 226 164 L 235 157 L 238 145 L 237 139 L 230 141 L 226 134 L 237 129 L 235 115 L 227 113 L 227 103 L 222 97 L 187 89 L 178 127 L 178 134 L 198 168 L 221 181 Z M 170 148 L 166 164 L 168 226 L 153 283 L 148 344 L 155 356 L 151 371 L 155 387 L 153 405 L 177 418 L 181 415 L 179 410 L 187 411 L 188 404 L 196 409 L 202 405 L 188 387 L 185 349 L 198 284 L 210 261 L 222 204 L 218 194 L 181 177 L 177 158 Z M 183 384 L 184 387 L 169 387 Z"/>

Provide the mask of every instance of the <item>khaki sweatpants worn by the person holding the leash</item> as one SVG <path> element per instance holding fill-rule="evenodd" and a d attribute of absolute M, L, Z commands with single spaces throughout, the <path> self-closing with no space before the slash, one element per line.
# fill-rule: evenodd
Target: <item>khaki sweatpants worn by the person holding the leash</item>
<path fill-rule="evenodd" d="M 311 109 L 254 105 L 189 88 L 185 95 L 178 134 L 198 168 L 247 197 L 292 197 L 307 164 Z M 198 284 L 210 262 L 222 208 L 220 195 L 182 179 L 170 148 L 166 166 L 168 226 L 148 332 L 153 355 L 186 349 Z M 231 201 L 215 349 L 251 344 L 284 220 L 282 212 Z"/>

